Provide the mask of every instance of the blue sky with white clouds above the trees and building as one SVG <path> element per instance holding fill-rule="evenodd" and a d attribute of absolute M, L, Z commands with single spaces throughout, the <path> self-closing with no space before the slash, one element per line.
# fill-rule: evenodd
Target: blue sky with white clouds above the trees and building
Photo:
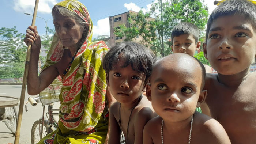
<path fill-rule="evenodd" d="M 45 20 L 52 19 L 51 9 L 54 4 L 61 0 L 39 0 L 37 16 Z M 93 20 L 93 37 L 97 35 L 109 34 L 108 16 L 113 16 L 127 12 L 129 10 L 139 11 L 141 7 L 144 11 L 150 9 L 151 3 L 157 0 L 80 0 L 88 9 Z M 216 6 L 214 0 L 204 0 L 211 12 Z M 32 16 L 24 13 L 33 14 L 35 0 L 1 0 L 0 2 L 0 28 L 12 28 L 16 26 L 18 33 L 26 33 L 26 29 L 32 22 Z M 36 19 L 39 35 L 45 35 L 45 21 L 41 18 Z M 52 20 L 48 20 L 47 26 L 54 28 Z"/>

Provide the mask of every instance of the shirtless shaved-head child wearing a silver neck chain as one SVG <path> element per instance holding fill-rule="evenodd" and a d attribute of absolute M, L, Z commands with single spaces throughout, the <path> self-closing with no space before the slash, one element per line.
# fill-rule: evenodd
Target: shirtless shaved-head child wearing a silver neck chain
<path fill-rule="evenodd" d="M 159 116 L 145 125 L 143 144 L 231 144 L 219 122 L 195 111 L 206 98 L 204 80 L 203 64 L 188 54 L 155 63 L 146 95 Z"/>

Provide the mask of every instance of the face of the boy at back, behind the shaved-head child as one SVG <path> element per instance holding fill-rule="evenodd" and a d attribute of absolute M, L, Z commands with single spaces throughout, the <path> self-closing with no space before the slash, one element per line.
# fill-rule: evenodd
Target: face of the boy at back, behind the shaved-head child
<path fill-rule="evenodd" d="M 200 48 L 201 42 L 196 42 L 192 34 L 182 34 L 173 38 L 173 53 L 187 53 L 194 56 L 195 51 Z"/>

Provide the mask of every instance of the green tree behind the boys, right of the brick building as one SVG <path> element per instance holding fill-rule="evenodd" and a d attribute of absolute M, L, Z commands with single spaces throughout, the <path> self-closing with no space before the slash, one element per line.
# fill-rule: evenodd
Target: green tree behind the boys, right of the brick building
<path fill-rule="evenodd" d="M 204 31 L 207 23 L 208 8 L 203 4 L 203 0 L 167 0 L 162 3 L 162 19 L 161 20 L 161 4 L 153 3 L 150 12 L 143 14 L 142 10 L 138 14 L 130 13 L 128 22 L 129 26 L 120 25 L 114 28 L 118 37 L 126 37 L 125 40 L 131 41 L 137 35 L 140 35 L 146 46 L 154 47 L 154 52 L 166 56 L 167 50 L 165 43 L 170 39 L 172 29 L 180 22 L 191 22 L 199 27 L 200 31 Z M 154 16 L 155 19 L 150 18 Z M 201 33 L 203 36 L 203 33 Z M 163 37 L 163 41 L 162 41 Z M 160 43 L 157 45 L 157 43 Z M 168 44 L 169 45 L 169 44 Z"/>

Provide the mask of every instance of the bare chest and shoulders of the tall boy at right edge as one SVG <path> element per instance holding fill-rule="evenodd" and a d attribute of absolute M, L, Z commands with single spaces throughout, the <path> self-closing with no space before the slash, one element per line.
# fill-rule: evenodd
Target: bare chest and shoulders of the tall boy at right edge
<path fill-rule="evenodd" d="M 209 88 L 207 91 L 206 103 L 210 108 L 211 116 L 222 124 L 232 144 L 255 143 L 255 82 L 252 84 L 241 84 L 232 90 L 219 86 Z"/>

